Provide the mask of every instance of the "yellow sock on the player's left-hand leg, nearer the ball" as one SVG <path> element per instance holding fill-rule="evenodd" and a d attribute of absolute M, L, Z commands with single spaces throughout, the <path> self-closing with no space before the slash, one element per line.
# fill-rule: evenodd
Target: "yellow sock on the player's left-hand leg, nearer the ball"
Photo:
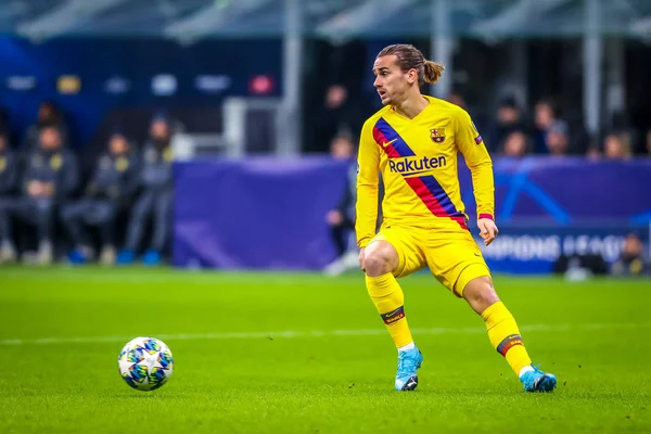
<path fill-rule="evenodd" d="M 405 295 L 396 278 L 391 272 L 376 278 L 367 276 L 366 283 L 396 347 L 412 343 L 411 331 L 405 318 Z"/>

